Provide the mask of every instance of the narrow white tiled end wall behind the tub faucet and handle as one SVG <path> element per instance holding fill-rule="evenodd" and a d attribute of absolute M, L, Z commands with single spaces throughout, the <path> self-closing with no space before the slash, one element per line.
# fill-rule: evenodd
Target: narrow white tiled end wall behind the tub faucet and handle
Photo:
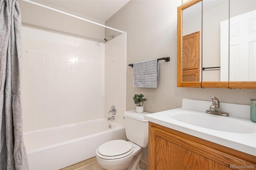
<path fill-rule="evenodd" d="M 126 111 L 126 33 L 105 43 L 106 117 L 112 105 L 116 106 L 114 121 L 124 126 L 123 116 Z"/>

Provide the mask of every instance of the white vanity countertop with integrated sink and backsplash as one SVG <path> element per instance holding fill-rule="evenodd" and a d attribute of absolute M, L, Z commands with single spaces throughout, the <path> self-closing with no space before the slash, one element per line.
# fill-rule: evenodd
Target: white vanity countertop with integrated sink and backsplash
<path fill-rule="evenodd" d="M 256 156 L 250 106 L 222 104 L 230 117 L 205 113 L 212 102 L 183 99 L 182 108 L 144 115 L 152 123 Z"/>

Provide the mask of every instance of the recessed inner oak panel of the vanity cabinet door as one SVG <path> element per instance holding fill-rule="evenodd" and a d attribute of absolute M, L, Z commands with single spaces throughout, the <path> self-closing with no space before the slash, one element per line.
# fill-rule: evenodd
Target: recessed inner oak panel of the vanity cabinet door
<path fill-rule="evenodd" d="M 231 170 L 206 156 L 156 136 L 156 170 Z"/>

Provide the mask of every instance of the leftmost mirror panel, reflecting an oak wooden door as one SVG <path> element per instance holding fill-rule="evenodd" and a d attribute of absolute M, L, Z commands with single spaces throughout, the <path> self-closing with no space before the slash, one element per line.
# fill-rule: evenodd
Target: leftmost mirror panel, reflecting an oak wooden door
<path fill-rule="evenodd" d="M 182 11 L 182 82 L 201 81 L 202 1 Z"/>

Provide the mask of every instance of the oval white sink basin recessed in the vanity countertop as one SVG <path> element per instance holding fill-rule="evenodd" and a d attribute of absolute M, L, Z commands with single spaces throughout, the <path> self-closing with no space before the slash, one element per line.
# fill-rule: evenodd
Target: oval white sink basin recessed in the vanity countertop
<path fill-rule="evenodd" d="M 206 113 L 205 113 L 206 114 Z M 180 121 L 182 123 L 187 123 L 197 127 L 208 128 L 212 130 L 218 130 L 223 132 L 233 132 L 233 133 L 252 133 L 252 128 L 243 125 L 243 121 L 231 121 L 227 120 L 227 117 L 216 117 L 216 115 L 198 115 L 197 113 L 190 112 L 190 114 L 180 114 L 172 115 L 172 119 Z M 230 119 L 230 118 L 228 118 Z"/>

